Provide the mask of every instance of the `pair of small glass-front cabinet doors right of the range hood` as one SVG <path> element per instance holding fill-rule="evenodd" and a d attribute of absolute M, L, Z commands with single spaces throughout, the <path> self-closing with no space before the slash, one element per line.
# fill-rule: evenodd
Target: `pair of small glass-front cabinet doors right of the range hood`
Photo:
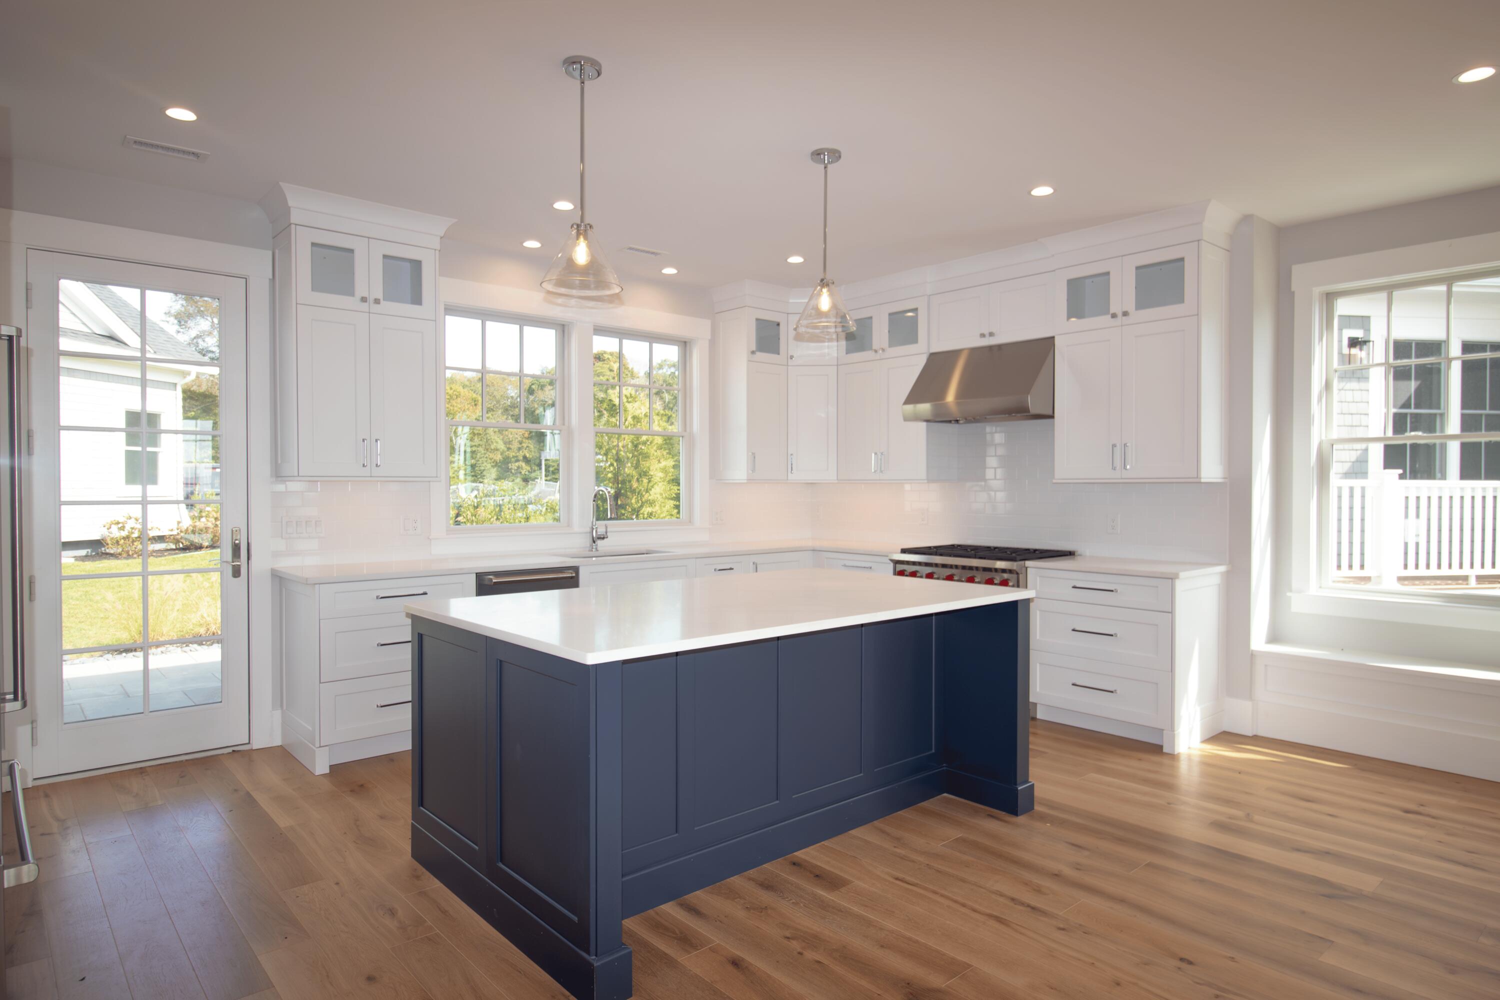
<path fill-rule="evenodd" d="M 1202 244 L 1184 243 L 1056 271 L 1056 333 L 1178 319 L 1198 312 Z"/>

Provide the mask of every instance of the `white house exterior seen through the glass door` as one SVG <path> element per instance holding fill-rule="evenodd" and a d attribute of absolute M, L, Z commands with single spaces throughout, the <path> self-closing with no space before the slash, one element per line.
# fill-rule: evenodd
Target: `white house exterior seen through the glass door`
<path fill-rule="evenodd" d="M 219 466 L 213 438 L 153 433 L 212 429 L 213 421 L 186 415 L 184 387 L 195 378 L 216 376 L 216 369 L 172 361 L 212 364 L 216 358 L 142 316 L 136 304 L 108 285 L 60 282 L 58 334 L 62 496 L 88 502 L 62 508 L 64 558 L 96 552 L 106 522 L 140 517 L 142 487 L 144 499 L 152 502 L 153 535 L 186 520 L 188 505 L 171 501 L 216 498 Z M 82 427 L 122 430 L 100 433 Z M 122 502 L 106 502 L 116 499 Z"/>

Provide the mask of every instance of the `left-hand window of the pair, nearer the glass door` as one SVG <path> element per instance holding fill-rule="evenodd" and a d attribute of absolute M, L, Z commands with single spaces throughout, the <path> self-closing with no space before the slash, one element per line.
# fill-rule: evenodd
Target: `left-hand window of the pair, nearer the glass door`
<path fill-rule="evenodd" d="M 450 528 L 562 522 L 562 360 L 556 324 L 444 313 Z"/>

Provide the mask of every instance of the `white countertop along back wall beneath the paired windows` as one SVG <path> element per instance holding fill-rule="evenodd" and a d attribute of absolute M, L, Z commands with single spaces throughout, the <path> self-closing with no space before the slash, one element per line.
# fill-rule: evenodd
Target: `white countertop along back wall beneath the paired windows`
<path fill-rule="evenodd" d="M 542 567 L 567 565 L 621 565 L 627 562 L 664 562 L 672 559 L 704 559 L 712 556 L 753 556 L 768 552 L 848 552 L 850 555 L 888 556 L 898 552 L 903 543 L 838 541 L 828 538 L 798 538 L 794 541 L 717 541 L 687 544 L 652 544 L 628 538 L 610 538 L 600 544 L 600 552 L 634 549 L 658 549 L 640 556 L 610 556 L 609 559 L 578 559 L 546 552 L 513 555 L 429 556 L 424 559 L 372 559 L 368 562 L 321 562 L 306 565 L 279 565 L 272 573 L 297 583 L 348 583 L 352 580 L 392 580 L 406 576 L 436 576 L 444 573 L 483 573 L 486 570 L 538 570 Z M 906 543 L 910 544 L 910 543 Z M 576 544 L 558 543 L 558 549 L 574 549 Z"/>

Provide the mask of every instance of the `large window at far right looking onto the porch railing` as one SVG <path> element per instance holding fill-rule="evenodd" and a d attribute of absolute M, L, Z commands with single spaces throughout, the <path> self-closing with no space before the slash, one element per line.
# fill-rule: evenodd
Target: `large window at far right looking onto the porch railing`
<path fill-rule="evenodd" d="M 1500 271 L 1324 295 L 1322 582 L 1500 601 Z"/>

